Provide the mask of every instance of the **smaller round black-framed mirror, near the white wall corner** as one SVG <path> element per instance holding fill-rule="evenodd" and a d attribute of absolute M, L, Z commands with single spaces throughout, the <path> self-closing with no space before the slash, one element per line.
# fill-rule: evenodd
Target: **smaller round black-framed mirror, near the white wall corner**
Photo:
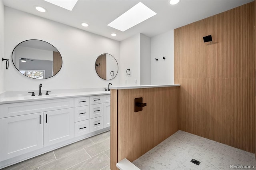
<path fill-rule="evenodd" d="M 107 53 L 98 56 L 95 61 L 95 70 L 100 78 L 104 80 L 114 79 L 118 72 L 118 64 L 115 57 Z"/>

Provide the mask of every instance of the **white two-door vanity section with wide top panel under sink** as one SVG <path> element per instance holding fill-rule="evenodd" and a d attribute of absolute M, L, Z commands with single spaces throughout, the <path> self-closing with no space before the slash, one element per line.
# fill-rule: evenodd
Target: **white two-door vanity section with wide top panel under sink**
<path fill-rule="evenodd" d="M 4 104 L 0 111 L 0 161 L 74 137 L 74 98 Z"/>

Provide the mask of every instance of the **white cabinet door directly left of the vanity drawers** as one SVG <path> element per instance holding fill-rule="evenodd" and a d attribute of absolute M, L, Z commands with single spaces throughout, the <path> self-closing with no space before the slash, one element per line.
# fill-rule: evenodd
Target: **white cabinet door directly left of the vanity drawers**
<path fill-rule="evenodd" d="M 44 146 L 74 138 L 74 108 L 44 112 Z"/>

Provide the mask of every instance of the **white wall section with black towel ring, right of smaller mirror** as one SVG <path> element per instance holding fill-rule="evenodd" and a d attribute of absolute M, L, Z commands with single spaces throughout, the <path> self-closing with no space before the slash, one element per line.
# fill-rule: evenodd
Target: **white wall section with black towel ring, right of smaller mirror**
<path fill-rule="evenodd" d="M 127 69 L 130 69 L 130 75 L 126 74 Z M 135 85 L 135 80 L 137 80 L 136 85 L 140 85 L 140 34 L 136 34 L 120 43 L 119 71 L 120 85 Z"/>

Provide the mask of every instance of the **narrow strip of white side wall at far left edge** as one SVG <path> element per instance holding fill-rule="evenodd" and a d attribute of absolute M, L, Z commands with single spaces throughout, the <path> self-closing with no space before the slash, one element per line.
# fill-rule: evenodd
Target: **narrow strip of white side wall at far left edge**
<path fill-rule="evenodd" d="M 4 69 L 6 62 L 2 61 L 4 57 L 4 3 L 0 0 L 0 92 L 3 91 L 4 88 Z M 9 64 L 12 61 L 9 62 Z"/>

